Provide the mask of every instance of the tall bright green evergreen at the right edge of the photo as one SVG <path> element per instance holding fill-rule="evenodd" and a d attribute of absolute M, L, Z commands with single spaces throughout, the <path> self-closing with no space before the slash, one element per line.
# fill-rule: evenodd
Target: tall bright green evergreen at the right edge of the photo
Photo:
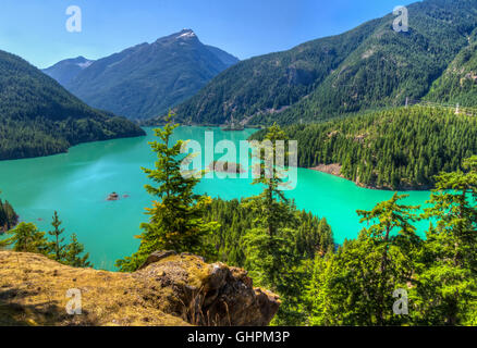
<path fill-rule="evenodd" d="M 466 325 L 477 318 L 477 157 L 463 167 L 437 176 L 424 214 L 437 223 L 427 232 L 412 294 L 418 324 Z"/>

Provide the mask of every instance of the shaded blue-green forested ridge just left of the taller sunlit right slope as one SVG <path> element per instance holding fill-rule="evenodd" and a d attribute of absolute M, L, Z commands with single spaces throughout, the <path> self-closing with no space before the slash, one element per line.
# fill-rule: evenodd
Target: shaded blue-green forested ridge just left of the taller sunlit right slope
<path fill-rule="evenodd" d="M 313 91 L 377 24 L 369 22 L 340 36 L 242 61 L 180 104 L 176 114 L 193 123 L 223 124 L 231 117 L 244 120 L 260 111 L 277 112 Z"/>

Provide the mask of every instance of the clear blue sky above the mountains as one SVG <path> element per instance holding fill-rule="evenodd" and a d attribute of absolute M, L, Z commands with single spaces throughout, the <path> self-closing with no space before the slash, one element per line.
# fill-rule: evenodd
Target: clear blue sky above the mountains
<path fill-rule="evenodd" d="M 246 59 L 335 35 L 409 0 L 0 0 L 0 49 L 38 67 L 98 59 L 192 28 L 207 45 Z M 82 33 L 65 29 L 78 5 Z"/>

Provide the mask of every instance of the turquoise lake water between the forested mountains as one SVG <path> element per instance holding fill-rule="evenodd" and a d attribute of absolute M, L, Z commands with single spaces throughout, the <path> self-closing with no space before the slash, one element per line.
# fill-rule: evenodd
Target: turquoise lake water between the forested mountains
<path fill-rule="evenodd" d="M 147 178 L 140 167 L 152 167 L 155 153 L 147 136 L 84 144 L 69 153 L 46 158 L 0 162 L 1 198 L 9 200 L 21 221 L 34 222 L 41 231 L 50 229 L 57 210 L 66 228 L 65 235 L 76 233 L 90 253 L 95 268 L 114 270 L 114 261 L 137 250 L 139 224 L 147 221 L 144 209 L 152 198 L 145 191 Z M 174 139 L 194 139 L 204 144 L 206 127 L 180 127 Z M 213 128 L 215 140 L 238 144 L 254 130 L 222 132 Z M 238 149 L 238 146 L 237 146 Z M 219 156 L 220 157 L 220 156 Z M 208 164 L 208 163 L 207 163 Z M 207 192 L 222 199 L 257 195 L 260 187 L 252 179 L 203 179 L 197 192 Z M 112 191 L 121 195 L 119 201 L 107 201 Z M 406 203 L 423 204 L 427 191 L 407 192 Z M 299 209 L 327 217 L 337 243 L 355 238 L 363 228 L 357 209 L 369 210 L 393 192 L 357 187 L 348 181 L 310 171 L 298 170 L 295 190 L 288 196 Z M 425 228 L 427 223 L 420 224 Z"/>

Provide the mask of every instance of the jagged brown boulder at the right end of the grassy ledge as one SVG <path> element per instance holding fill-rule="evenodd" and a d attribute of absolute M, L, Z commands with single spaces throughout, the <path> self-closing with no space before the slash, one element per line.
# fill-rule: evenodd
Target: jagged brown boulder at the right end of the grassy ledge
<path fill-rule="evenodd" d="M 135 276 L 172 286 L 168 312 L 196 325 L 264 326 L 280 306 L 277 295 L 253 288 L 246 271 L 223 263 L 207 264 L 187 253 L 155 252 Z"/>

